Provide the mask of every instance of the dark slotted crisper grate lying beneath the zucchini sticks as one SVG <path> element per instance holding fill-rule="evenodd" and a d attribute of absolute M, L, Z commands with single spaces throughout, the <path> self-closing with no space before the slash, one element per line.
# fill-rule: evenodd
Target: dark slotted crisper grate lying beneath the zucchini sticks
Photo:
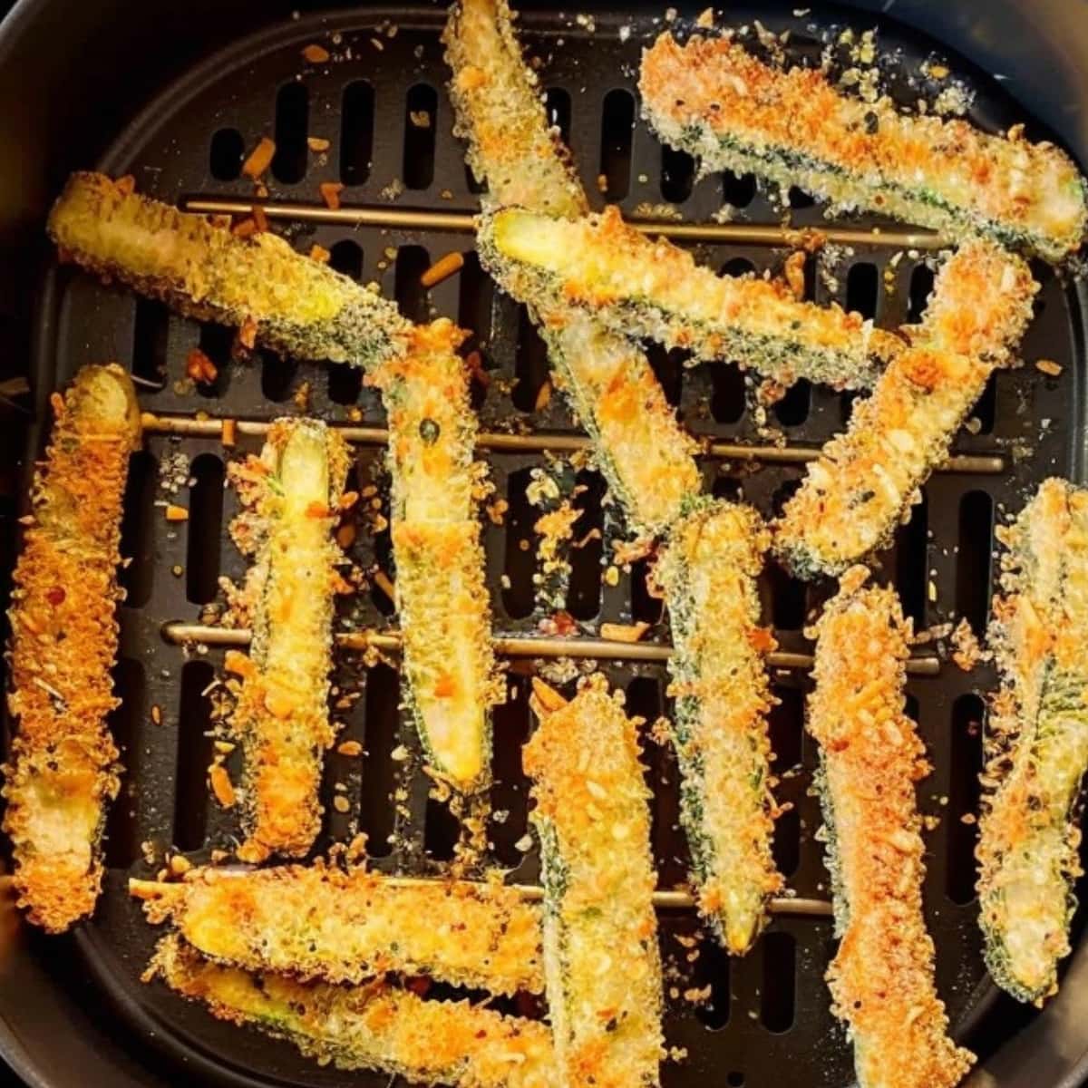
<path fill-rule="evenodd" d="M 746 5 L 731 4 L 728 14 L 741 24 L 753 12 Z M 809 28 L 815 16 L 794 17 L 789 5 L 783 5 L 776 17 L 765 4 L 759 5 L 758 15 L 772 30 L 791 28 L 792 50 L 818 52 L 818 35 Z M 269 135 L 277 145 L 269 178 L 273 199 L 318 203 L 319 183 L 343 181 L 345 205 L 470 211 L 475 196 L 462 149 L 450 131 L 444 90 L 446 71 L 437 40 L 442 18 L 443 13 L 432 9 L 361 10 L 335 20 L 295 21 L 239 42 L 157 100 L 119 138 L 102 165 L 118 174 L 132 172 L 141 190 L 164 199 L 183 194 L 249 196 L 250 183 L 239 177 L 242 160 L 260 136 Z M 632 25 L 633 33 L 621 40 L 618 29 L 625 23 Z M 861 27 L 868 25 L 866 17 Z M 592 29 L 566 16 L 532 15 L 523 22 L 527 40 L 545 60 L 543 82 L 551 109 L 569 139 L 586 188 L 597 194 L 597 177 L 604 175 L 608 199 L 617 200 L 629 214 L 640 205 L 669 200 L 687 220 L 708 222 L 725 197 L 735 206 L 739 219 L 777 222 L 780 211 L 754 190 L 751 178 L 710 176 L 693 184 L 690 161 L 663 151 L 635 120 L 639 51 L 645 36 L 658 28 L 658 20 L 648 15 L 633 21 L 598 15 Z M 900 72 L 917 71 L 931 50 L 931 44 L 906 37 L 890 24 L 880 40 L 885 50 L 899 50 Z M 333 61 L 305 63 L 301 48 L 313 41 L 331 49 Z M 973 82 L 969 74 L 966 78 Z M 1021 120 L 998 96 L 996 85 L 981 78 L 975 82 L 975 115 L 980 123 Z M 916 97 L 919 91 L 907 92 Z M 419 111 L 429 114 L 425 127 L 410 120 Z M 308 136 L 327 139 L 327 152 L 309 151 Z M 390 202 L 388 186 L 394 180 L 406 188 Z M 823 222 L 820 209 L 803 195 L 794 194 L 791 202 L 794 223 Z M 573 430 L 558 397 L 533 410 L 542 399 L 540 386 L 547 374 L 541 344 L 524 312 L 493 292 L 473 258 L 469 257 L 459 276 L 432 292 L 419 286 L 420 272 L 434 258 L 450 249 L 470 250 L 470 235 L 313 224 L 288 226 L 288 233 L 300 248 L 319 243 L 332 251 L 339 269 L 364 281 L 379 281 L 408 317 L 423 320 L 432 312 L 447 314 L 474 330 L 492 374 L 485 394 L 480 391 L 483 429 L 508 429 L 512 421 L 524 430 Z M 714 244 L 704 246 L 702 252 L 709 264 L 729 270 L 775 269 L 783 259 L 783 251 L 758 246 Z M 908 314 L 916 318 L 930 273 L 917 254 L 893 258 L 894 254 L 889 247 L 871 245 L 840 251 L 836 267 L 828 268 L 824 261 L 838 284 L 820 273 L 813 275 L 813 297 L 819 301 L 836 298 L 885 325 L 902 322 Z M 956 452 L 1000 455 L 1003 468 L 937 473 L 925 489 L 925 502 L 899 532 L 894 551 L 885 558 L 883 572 L 899 588 L 918 628 L 966 615 L 981 631 L 994 519 L 1017 508 L 1028 486 L 1043 475 L 1079 471 L 1073 435 L 1081 420 L 1070 410 L 1081 399 L 1081 299 L 1048 269 L 1039 268 L 1037 274 L 1044 286 L 1024 355 L 1028 360 L 1054 360 L 1063 368 L 1062 374 L 1046 378 L 1028 366 L 998 375 L 977 411 L 979 432 L 962 434 Z M 158 391 L 141 393 L 144 407 L 157 413 L 193 417 L 206 412 L 267 420 L 298 411 L 293 396 L 306 382 L 314 415 L 347 421 L 349 409 L 357 405 L 361 419 L 356 417 L 356 422 L 382 423 L 373 392 L 360 392 L 360 375 L 344 367 L 296 366 L 260 354 L 251 362 L 232 361 L 232 337 L 225 330 L 171 317 L 157 304 L 137 301 L 69 269 L 53 274 L 52 288 L 47 297 L 59 312 L 55 323 L 42 325 L 45 335 L 54 338 L 46 342 L 44 357 L 52 351 L 55 372 L 42 375 L 47 385 L 65 382 L 88 361 L 131 359 L 139 376 L 161 381 Z M 186 354 L 197 345 L 217 362 L 220 378 L 213 391 L 181 393 L 175 383 L 184 374 Z M 724 442 L 765 444 L 745 407 L 743 382 L 734 366 L 721 362 L 685 371 L 675 357 L 657 354 L 654 359 L 670 399 L 692 430 Z M 845 396 L 801 383 L 771 411 L 770 422 L 781 428 L 788 444 L 813 446 L 839 429 L 848 411 Z M 258 436 L 243 436 L 234 453 L 257 449 L 259 444 Z M 188 460 L 191 481 L 175 496 L 190 509 L 183 524 L 168 523 L 156 506 L 169 497 L 160 490 L 162 467 L 178 454 Z M 230 848 L 236 841 L 233 817 L 209 801 L 206 786 L 211 740 L 206 735 L 210 705 L 203 692 L 221 669 L 222 647 L 186 652 L 161 634 L 168 621 L 198 620 L 202 607 L 217 597 L 220 574 L 243 574 L 243 560 L 225 533 L 236 512 L 233 492 L 223 489 L 225 454 L 214 435 L 180 438 L 152 433 L 134 460 L 123 543 L 124 554 L 133 561 L 123 578 L 128 598 L 121 609 L 118 665 L 124 703 L 113 721 L 127 772 L 109 821 L 107 889 L 95 920 L 81 929 L 78 947 L 134 1030 L 153 1035 L 158 1044 L 184 1056 L 189 1068 L 200 1070 L 208 1083 L 249 1084 L 246 1078 L 252 1077 L 257 1083 L 384 1085 L 385 1077 L 346 1077 L 319 1068 L 285 1043 L 214 1022 L 202 1009 L 185 1004 L 158 984 L 138 981 L 158 936 L 125 893 L 129 873 L 147 876 L 158 867 L 144 860 L 143 844 L 151 843 L 160 857 L 174 845 L 196 862 L 206 860 L 212 848 Z M 381 457 L 378 446 L 358 447 L 357 472 L 362 483 L 375 473 L 380 477 Z M 544 458 L 533 450 L 491 450 L 487 459 L 498 494 L 510 504 L 505 526 L 489 522 L 485 533 L 496 631 L 531 633 L 541 619 L 533 610 L 533 549 L 522 551 L 520 542 L 532 541 L 535 512 L 524 492 L 530 470 L 544 463 Z M 715 494 L 743 493 L 765 515 L 778 507 L 802 471 L 799 463 L 743 465 L 713 456 L 703 465 Z M 610 555 L 616 530 L 602 511 L 599 478 L 585 472 L 578 479 L 589 487 L 579 499 L 585 514 L 576 535 L 599 527 L 604 541 L 572 553 L 568 610 L 585 634 L 595 634 L 599 621 L 625 622 L 633 616 L 653 622 L 647 641 L 666 642 L 667 623 L 659 603 L 645 592 L 641 565 L 616 585 L 602 579 L 602 552 Z M 360 526 L 351 557 L 363 567 L 376 561 L 388 570 L 387 532 L 373 537 Z M 506 579 L 508 588 L 504 589 Z M 771 566 L 764 590 L 767 618 L 782 648 L 811 650 L 802 629 L 809 609 L 826 597 L 827 588 L 803 586 Z M 380 591 L 342 602 L 342 619 L 354 626 L 382 628 L 392 622 L 391 607 Z M 327 816 L 319 849 L 362 830 L 369 836 L 375 866 L 435 871 L 450 855 L 456 828 L 448 812 L 428 800 L 422 774 L 411 774 L 406 769 L 410 762 L 400 763 L 391 755 L 399 744 L 412 752 L 417 749 L 411 729 L 397 710 L 396 672 L 385 665 L 368 670 L 358 664 L 358 655 L 342 653 L 338 660 L 342 691 L 362 692 L 351 709 L 341 715 L 345 721 L 342 735 L 360 740 L 367 755 L 350 759 L 330 754 Z M 650 720 L 669 713 L 660 662 L 603 666 L 611 682 L 627 690 L 633 712 Z M 530 671 L 527 663 L 515 663 L 510 687 L 517 698 L 499 708 L 495 719 L 494 808 L 508 809 L 509 817 L 492 826 L 491 838 L 495 860 L 517 867 L 512 878 L 521 882 L 534 882 L 536 877 L 535 855 L 523 856 L 516 845 L 527 828 L 520 745 L 530 729 L 526 698 Z M 974 828 L 961 816 L 973 809 L 977 799 L 978 724 L 984 715 L 978 693 L 991 681 L 986 666 L 966 673 L 945 664 L 939 676 L 915 676 L 908 685 L 911 709 L 935 764 L 932 775 L 922 783 L 920 803 L 925 813 L 940 817 L 939 826 L 927 834 L 927 904 L 941 991 L 961 1026 L 979 1014 L 990 992 L 982 982 L 972 902 Z M 817 803 L 809 795 L 815 752 L 802 730 L 807 684 L 803 671 L 781 671 L 775 677 L 781 700 L 771 727 L 782 775 L 778 795 L 794 806 L 778 824 L 775 852 L 799 895 L 826 900 L 823 848 L 814 838 L 819 825 Z M 151 717 L 154 706 L 162 710 L 159 725 Z M 683 880 L 687 862 L 676 827 L 677 771 L 670 753 L 652 743 L 647 761 L 655 793 L 653 837 L 660 886 L 671 888 Z M 327 805 L 334 782 L 347 787 L 350 809 L 345 814 Z M 391 791 L 401 786 L 406 800 L 394 806 Z M 387 841 L 394 830 L 398 832 L 395 849 Z M 662 913 L 663 950 L 670 965 L 666 1031 L 670 1044 L 688 1051 L 685 1062 L 666 1066 L 667 1085 L 696 1084 L 712 1072 L 715 1084 L 734 1088 L 838 1088 L 851 1081 L 849 1047 L 831 1018 L 823 980 L 832 950 L 829 919 L 779 915 L 756 949 L 732 962 L 706 937 L 697 936 L 694 948 L 678 940 L 696 929 L 690 911 Z M 703 988 L 708 988 L 708 997 L 702 1003 L 685 997 L 685 991 Z"/>

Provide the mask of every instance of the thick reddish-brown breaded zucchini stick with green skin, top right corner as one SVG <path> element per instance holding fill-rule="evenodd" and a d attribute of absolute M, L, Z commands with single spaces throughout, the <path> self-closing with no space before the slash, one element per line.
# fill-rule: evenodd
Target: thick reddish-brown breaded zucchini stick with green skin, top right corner
<path fill-rule="evenodd" d="M 1058 261 L 1088 226 L 1085 181 L 1022 125 L 991 136 L 959 119 L 865 102 L 820 71 L 783 71 L 728 36 L 680 46 L 663 34 L 643 53 L 643 114 L 703 169 L 798 185 L 844 210 L 877 211 L 950 238 L 981 237 Z"/>

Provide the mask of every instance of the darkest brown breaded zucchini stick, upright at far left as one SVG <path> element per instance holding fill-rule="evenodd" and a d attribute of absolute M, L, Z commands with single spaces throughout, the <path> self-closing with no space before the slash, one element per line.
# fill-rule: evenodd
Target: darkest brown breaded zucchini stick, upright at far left
<path fill-rule="evenodd" d="M 3 826 L 18 905 L 60 932 L 95 908 L 106 805 L 120 784 L 107 715 L 118 705 L 121 509 L 140 422 L 132 381 L 115 364 L 85 367 L 52 408 L 8 614 L 16 734 Z"/>

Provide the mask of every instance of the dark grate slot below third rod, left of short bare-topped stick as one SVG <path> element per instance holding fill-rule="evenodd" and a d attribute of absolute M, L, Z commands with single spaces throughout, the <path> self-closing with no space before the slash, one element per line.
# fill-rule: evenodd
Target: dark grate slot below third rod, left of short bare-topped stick
<path fill-rule="evenodd" d="M 177 708 L 177 782 L 174 792 L 174 845 L 199 850 L 207 830 L 208 768 L 213 756 L 211 698 L 205 694 L 215 679 L 209 662 L 182 666 Z"/>

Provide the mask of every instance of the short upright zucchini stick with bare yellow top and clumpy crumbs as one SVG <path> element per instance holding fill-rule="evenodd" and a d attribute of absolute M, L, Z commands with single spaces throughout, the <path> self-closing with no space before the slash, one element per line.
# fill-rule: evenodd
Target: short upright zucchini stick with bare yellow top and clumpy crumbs
<path fill-rule="evenodd" d="M 322 758 L 329 720 L 333 597 L 343 559 L 333 540 L 349 455 L 319 420 L 273 423 L 260 458 L 231 466 L 247 510 L 233 527 L 256 548 L 249 656 L 227 655 L 242 678 L 232 728 L 243 744 L 246 842 L 238 856 L 298 857 L 321 825 Z"/>

